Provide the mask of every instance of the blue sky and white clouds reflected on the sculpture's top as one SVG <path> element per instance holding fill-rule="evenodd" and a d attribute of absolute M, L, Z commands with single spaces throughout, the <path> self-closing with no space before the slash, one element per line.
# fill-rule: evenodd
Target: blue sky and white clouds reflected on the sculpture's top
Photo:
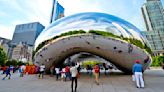
<path fill-rule="evenodd" d="M 71 15 L 53 22 L 39 35 L 35 42 L 35 48 L 39 43 L 56 35 L 81 29 L 108 31 L 118 36 L 122 35 L 126 38 L 135 38 L 146 42 L 139 29 L 129 22 L 109 14 L 88 12 Z"/>

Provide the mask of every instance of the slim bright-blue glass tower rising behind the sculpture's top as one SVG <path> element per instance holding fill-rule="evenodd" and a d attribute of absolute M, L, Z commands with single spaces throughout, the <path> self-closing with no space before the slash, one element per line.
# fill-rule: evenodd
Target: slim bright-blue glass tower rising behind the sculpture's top
<path fill-rule="evenodd" d="M 53 0 L 50 23 L 64 17 L 64 8 L 56 0 Z"/>

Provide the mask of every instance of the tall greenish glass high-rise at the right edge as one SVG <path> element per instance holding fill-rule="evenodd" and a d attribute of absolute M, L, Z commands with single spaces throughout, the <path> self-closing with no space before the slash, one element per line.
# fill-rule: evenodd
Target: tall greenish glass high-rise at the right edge
<path fill-rule="evenodd" d="M 154 55 L 164 54 L 164 9 L 160 0 L 146 0 L 141 7 L 146 31 L 143 34 Z"/>

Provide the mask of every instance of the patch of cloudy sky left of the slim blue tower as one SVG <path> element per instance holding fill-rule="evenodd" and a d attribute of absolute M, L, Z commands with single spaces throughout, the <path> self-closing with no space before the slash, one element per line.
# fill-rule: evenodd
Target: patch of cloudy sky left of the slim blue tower
<path fill-rule="evenodd" d="M 6 11 L 1 11 L 0 16 L 6 18 L 4 19 L 6 21 L 1 21 L 0 37 L 12 39 L 17 24 L 30 22 L 40 22 L 44 26 L 49 24 L 52 0 L 0 0 L 0 6 L 1 4 L 5 8 L 0 7 L 0 10 L 6 9 Z M 6 14 L 8 17 L 5 17 Z"/>

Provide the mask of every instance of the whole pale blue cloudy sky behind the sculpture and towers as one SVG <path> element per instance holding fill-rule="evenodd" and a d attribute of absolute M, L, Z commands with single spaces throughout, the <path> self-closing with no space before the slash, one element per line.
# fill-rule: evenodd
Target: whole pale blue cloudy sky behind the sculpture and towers
<path fill-rule="evenodd" d="M 65 15 L 103 12 L 125 19 L 144 30 L 141 6 L 145 0 L 58 0 Z M 164 5 L 164 0 L 161 0 Z M 12 39 L 17 24 L 40 22 L 49 25 L 52 0 L 0 0 L 0 37 Z"/>

